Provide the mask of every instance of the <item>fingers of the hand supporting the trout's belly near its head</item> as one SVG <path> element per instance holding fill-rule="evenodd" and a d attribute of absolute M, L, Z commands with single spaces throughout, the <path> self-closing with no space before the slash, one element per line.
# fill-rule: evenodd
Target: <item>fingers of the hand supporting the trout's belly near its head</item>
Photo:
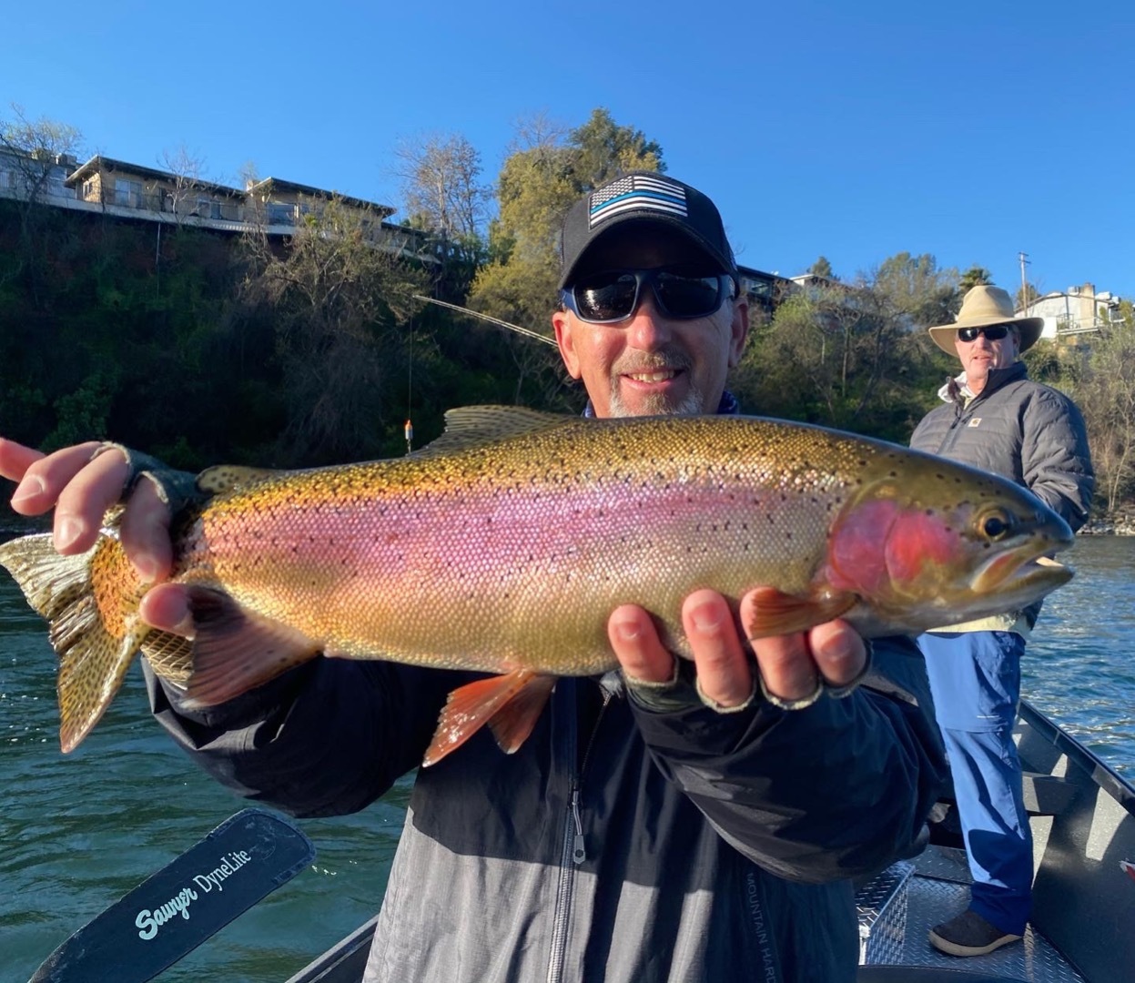
<path fill-rule="evenodd" d="M 762 588 L 760 590 L 766 590 Z M 755 595 L 741 598 L 741 630 L 753 623 Z M 682 605 L 693 663 L 703 695 L 723 708 L 743 704 L 753 694 L 751 662 L 725 599 L 696 590 Z M 674 655 L 663 648 L 650 615 L 636 605 L 615 610 L 607 635 L 623 673 L 649 683 L 674 675 Z M 839 688 L 855 681 L 867 664 L 867 647 L 846 621 L 818 624 L 808 632 L 751 641 L 765 689 L 785 701 L 807 699 L 824 682 Z"/>

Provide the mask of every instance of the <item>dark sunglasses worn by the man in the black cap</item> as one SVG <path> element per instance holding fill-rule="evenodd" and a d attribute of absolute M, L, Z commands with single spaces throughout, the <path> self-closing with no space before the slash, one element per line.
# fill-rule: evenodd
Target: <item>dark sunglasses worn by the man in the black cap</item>
<path fill-rule="evenodd" d="M 725 275 L 695 277 L 655 270 L 612 270 L 585 277 L 560 292 L 560 301 L 577 318 L 592 325 L 624 321 L 638 310 L 642 285 L 654 291 L 658 310 L 679 320 L 704 318 L 717 311 L 737 284 Z"/>

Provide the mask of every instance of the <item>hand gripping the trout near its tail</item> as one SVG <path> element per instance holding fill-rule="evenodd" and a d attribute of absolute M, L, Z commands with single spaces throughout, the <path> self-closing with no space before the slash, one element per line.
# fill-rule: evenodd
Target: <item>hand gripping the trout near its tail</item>
<path fill-rule="evenodd" d="M 18 482 L 11 507 L 22 515 L 56 510 L 56 549 L 74 555 L 99 538 L 106 511 L 119 501 L 129 474 L 121 452 L 107 450 L 92 457 L 96 442 L 43 454 L 0 437 L 0 477 Z M 152 583 L 169 577 L 174 549 L 169 540 L 169 510 L 152 481 L 140 481 L 123 515 L 119 535 L 138 575 Z M 173 583 L 150 590 L 142 600 L 144 621 L 163 631 L 192 630 L 184 590 Z"/>

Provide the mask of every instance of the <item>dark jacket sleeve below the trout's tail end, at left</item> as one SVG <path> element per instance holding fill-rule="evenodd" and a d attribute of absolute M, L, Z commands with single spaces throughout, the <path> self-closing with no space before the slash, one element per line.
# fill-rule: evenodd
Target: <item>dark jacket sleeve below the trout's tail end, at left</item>
<path fill-rule="evenodd" d="M 356 812 L 421 763 L 456 673 L 317 658 L 234 700 L 185 707 L 143 659 L 151 708 L 238 795 L 295 816 Z"/>

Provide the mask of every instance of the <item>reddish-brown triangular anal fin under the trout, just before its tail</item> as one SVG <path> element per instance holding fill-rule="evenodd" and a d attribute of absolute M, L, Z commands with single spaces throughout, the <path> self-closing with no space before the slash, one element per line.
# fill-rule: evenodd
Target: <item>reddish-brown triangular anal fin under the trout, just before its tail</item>
<path fill-rule="evenodd" d="M 191 707 L 225 703 L 319 655 L 319 642 L 242 607 L 224 591 L 190 587 L 188 594 L 194 630 L 186 682 Z"/>

